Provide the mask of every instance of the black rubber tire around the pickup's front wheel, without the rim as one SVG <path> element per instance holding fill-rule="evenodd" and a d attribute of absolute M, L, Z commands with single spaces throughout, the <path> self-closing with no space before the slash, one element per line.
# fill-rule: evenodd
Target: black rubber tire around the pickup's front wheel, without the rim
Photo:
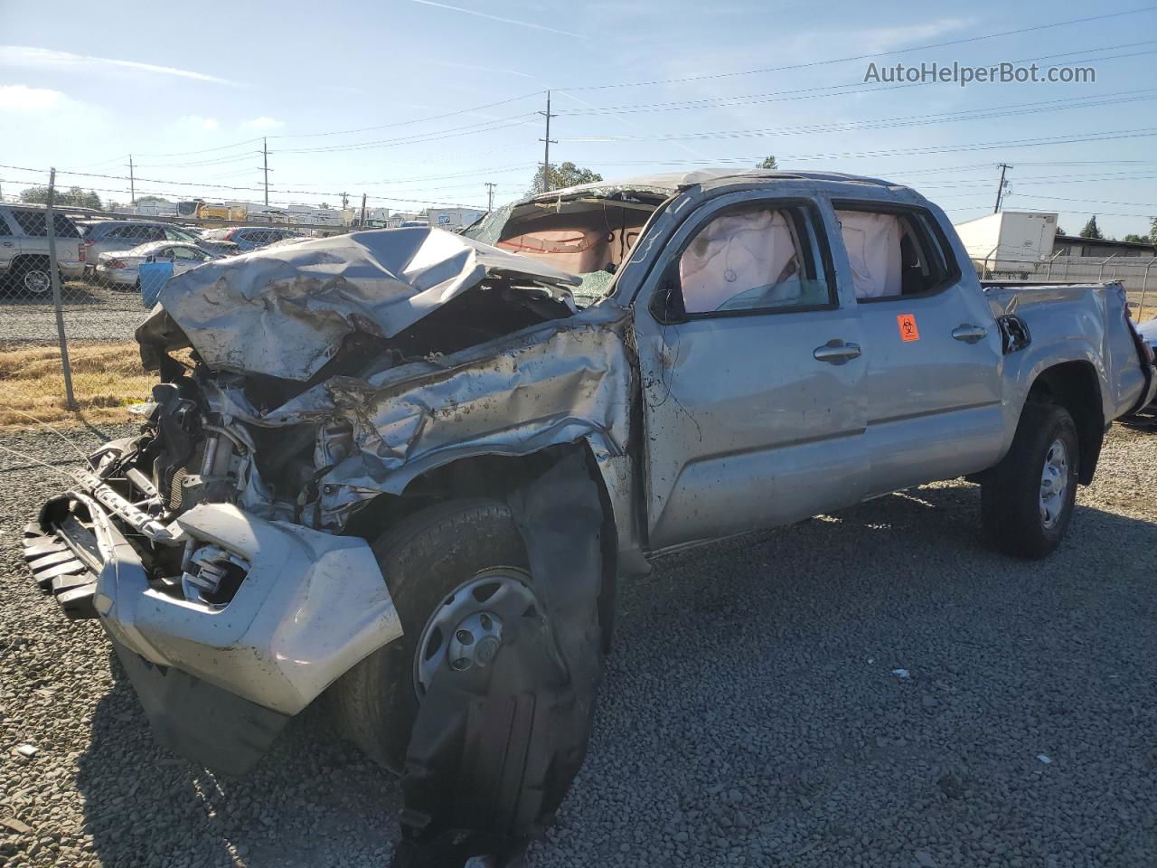
<path fill-rule="evenodd" d="M 448 595 L 502 568 L 530 584 L 526 551 L 510 508 L 484 498 L 422 509 L 374 542 L 403 635 L 351 669 L 336 685 L 345 734 L 371 759 L 401 774 L 418 715 L 415 656 L 423 628 Z"/>

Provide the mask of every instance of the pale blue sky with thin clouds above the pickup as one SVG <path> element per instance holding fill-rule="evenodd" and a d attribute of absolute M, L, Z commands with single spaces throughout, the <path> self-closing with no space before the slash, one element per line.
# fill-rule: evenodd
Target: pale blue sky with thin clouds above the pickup
<path fill-rule="evenodd" d="M 966 220 L 992 211 L 1008 162 L 1008 208 L 1060 212 L 1073 233 L 1096 213 L 1113 235 L 1144 234 L 1157 7 L 876 60 L 1084 61 L 1096 83 L 896 87 L 864 84 L 865 59 L 817 64 L 1138 8 L 0 0 L 0 164 L 27 167 L 0 168 L 0 184 L 43 183 L 49 165 L 121 176 L 132 153 L 138 196 L 257 200 L 268 137 L 271 201 L 478 205 L 493 182 L 501 203 L 541 160 L 551 88 L 552 162 L 609 178 L 775 154 L 781 168 L 909 183 Z M 1057 138 L 1069 141 L 1029 144 Z M 128 198 L 118 178 L 60 182 Z"/>

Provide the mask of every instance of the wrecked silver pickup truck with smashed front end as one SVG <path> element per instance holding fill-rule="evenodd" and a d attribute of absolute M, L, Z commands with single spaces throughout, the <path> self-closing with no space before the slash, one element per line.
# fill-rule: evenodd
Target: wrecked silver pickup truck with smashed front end
<path fill-rule="evenodd" d="M 172 279 L 137 337 L 142 432 L 27 558 L 161 741 L 242 771 L 326 693 L 407 799 L 514 763 L 523 814 L 581 763 L 619 576 L 960 476 L 1042 557 L 1155 389 L 1119 285 L 982 287 L 935 205 L 818 172 L 257 251 Z"/>

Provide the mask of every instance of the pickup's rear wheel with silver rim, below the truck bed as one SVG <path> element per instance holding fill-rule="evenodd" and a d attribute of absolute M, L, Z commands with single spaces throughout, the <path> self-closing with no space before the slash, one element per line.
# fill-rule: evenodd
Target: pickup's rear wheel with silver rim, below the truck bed
<path fill-rule="evenodd" d="M 1053 552 L 1073 518 L 1079 448 L 1076 425 L 1056 404 L 1025 404 L 1008 455 L 981 488 L 985 531 L 1018 558 Z"/>

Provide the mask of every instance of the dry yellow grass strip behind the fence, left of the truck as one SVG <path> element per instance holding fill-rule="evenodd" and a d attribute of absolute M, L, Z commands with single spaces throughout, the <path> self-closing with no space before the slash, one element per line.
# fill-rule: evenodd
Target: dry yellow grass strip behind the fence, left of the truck
<path fill-rule="evenodd" d="M 148 398 L 155 374 L 141 368 L 134 341 L 68 346 L 78 411 L 65 404 L 60 351 L 52 347 L 0 350 L 0 427 L 28 427 L 20 410 L 46 422 L 126 421 L 125 407 Z"/>

